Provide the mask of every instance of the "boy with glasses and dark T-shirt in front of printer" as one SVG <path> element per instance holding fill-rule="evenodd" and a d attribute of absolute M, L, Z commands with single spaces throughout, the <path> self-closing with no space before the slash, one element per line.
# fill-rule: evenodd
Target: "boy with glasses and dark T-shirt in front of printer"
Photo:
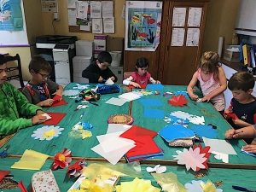
<path fill-rule="evenodd" d="M 49 79 L 51 67 L 43 57 L 35 55 L 28 66 L 32 79 L 22 90 L 28 102 L 39 107 L 51 106 L 55 95 L 62 98 L 63 87 Z"/>

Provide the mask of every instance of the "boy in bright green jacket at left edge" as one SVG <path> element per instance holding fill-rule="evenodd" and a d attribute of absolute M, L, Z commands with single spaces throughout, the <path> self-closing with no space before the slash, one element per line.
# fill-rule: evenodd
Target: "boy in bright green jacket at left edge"
<path fill-rule="evenodd" d="M 6 82 L 6 61 L 0 55 L 0 138 L 15 133 L 20 129 L 43 123 L 46 119 L 42 108 L 32 105 L 15 86 Z M 21 116 L 33 116 L 24 119 Z"/>

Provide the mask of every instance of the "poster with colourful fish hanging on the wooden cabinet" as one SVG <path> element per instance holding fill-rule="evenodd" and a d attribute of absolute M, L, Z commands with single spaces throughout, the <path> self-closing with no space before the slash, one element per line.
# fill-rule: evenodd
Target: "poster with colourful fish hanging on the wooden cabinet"
<path fill-rule="evenodd" d="M 160 43 L 162 2 L 126 1 L 125 50 L 154 51 Z"/>

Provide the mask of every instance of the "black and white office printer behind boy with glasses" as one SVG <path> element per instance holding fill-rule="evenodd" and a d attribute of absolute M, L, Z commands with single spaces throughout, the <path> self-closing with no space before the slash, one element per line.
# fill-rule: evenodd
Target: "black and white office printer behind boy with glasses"
<path fill-rule="evenodd" d="M 76 36 L 44 35 L 36 37 L 39 55 L 52 67 L 50 79 L 65 87 L 73 82 L 73 57 Z"/>

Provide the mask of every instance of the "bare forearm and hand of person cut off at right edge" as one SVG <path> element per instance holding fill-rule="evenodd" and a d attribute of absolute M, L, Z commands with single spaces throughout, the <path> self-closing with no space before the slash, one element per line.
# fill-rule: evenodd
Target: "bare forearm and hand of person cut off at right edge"
<path fill-rule="evenodd" d="M 239 130 L 228 130 L 225 132 L 227 139 L 232 138 L 254 138 L 256 137 L 256 125 L 250 125 Z M 248 153 L 256 153 L 256 145 L 246 145 L 242 148 Z"/>

